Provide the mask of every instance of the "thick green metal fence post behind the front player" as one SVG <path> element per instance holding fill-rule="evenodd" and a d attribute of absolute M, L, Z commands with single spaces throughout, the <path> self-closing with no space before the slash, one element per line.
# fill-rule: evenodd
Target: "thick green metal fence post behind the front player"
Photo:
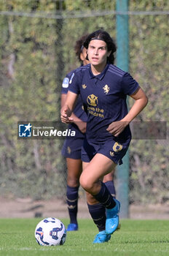
<path fill-rule="evenodd" d="M 120 12 L 128 11 L 129 0 L 117 0 L 117 67 L 128 71 L 128 15 Z M 120 217 L 129 217 L 129 152 L 123 158 L 123 165 L 117 166 L 117 199 L 121 203 Z"/>

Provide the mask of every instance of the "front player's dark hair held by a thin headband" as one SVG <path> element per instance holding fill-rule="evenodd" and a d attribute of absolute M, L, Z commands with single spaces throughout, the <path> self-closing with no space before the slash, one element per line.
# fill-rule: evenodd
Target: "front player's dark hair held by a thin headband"
<path fill-rule="evenodd" d="M 110 56 L 107 58 L 107 61 L 109 61 L 111 64 L 114 64 L 114 53 L 117 50 L 117 47 L 114 43 L 114 40 L 110 37 L 109 33 L 107 33 L 106 31 L 103 31 L 103 29 L 99 29 L 95 32 L 93 32 L 92 34 L 89 34 L 89 36 L 87 37 L 87 39 L 85 39 L 84 41 L 84 48 L 89 47 L 90 41 L 94 40 L 94 39 L 99 39 L 99 40 L 103 40 L 104 42 L 106 42 L 107 45 L 107 50 L 110 51 L 111 50 L 111 54 Z"/>

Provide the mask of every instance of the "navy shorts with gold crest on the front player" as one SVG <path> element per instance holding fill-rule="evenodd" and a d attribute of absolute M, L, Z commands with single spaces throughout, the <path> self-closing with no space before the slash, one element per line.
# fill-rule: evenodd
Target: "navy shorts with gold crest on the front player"
<path fill-rule="evenodd" d="M 129 145 L 130 139 L 126 140 L 125 143 L 119 143 L 112 139 L 99 144 L 84 140 L 84 145 L 82 146 L 82 161 L 90 162 L 95 154 L 99 153 L 108 157 L 117 165 L 122 165 L 122 158 L 125 157 Z"/>

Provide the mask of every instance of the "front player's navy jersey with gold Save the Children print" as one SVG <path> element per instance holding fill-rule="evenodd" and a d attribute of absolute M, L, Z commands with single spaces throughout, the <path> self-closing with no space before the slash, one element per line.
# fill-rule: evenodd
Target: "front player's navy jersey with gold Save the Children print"
<path fill-rule="evenodd" d="M 124 142 L 130 139 L 130 127 L 118 136 L 107 132 L 109 124 L 127 115 L 127 95 L 138 89 L 138 83 L 129 73 L 113 64 L 107 64 L 99 75 L 93 75 L 90 64 L 75 69 L 68 90 L 80 94 L 87 111 L 87 140 L 104 142 L 107 139 Z"/>

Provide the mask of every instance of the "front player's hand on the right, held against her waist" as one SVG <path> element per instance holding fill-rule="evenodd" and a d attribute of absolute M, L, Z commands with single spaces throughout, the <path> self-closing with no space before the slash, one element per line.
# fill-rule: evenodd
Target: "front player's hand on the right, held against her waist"
<path fill-rule="evenodd" d="M 117 137 L 125 129 L 125 127 L 127 127 L 127 124 L 127 121 L 114 121 L 109 124 L 109 127 L 106 130 Z"/>

